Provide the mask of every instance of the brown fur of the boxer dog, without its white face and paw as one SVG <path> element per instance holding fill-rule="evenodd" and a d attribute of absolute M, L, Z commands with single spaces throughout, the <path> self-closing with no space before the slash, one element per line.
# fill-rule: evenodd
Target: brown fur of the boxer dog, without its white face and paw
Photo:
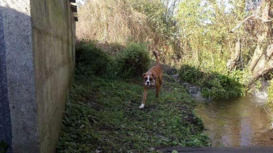
<path fill-rule="evenodd" d="M 163 80 L 163 71 L 162 68 L 159 65 L 159 58 L 158 58 L 158 52 L 154 52 L 154 55 L 156 57 L 156 65 L 150 68 L 146 73 L 142 75 L 144 79 L 144 83 L 146 82 L 145 78 L 149 77 L 151 79 L 154 79 L 155 81 L 155 87 L 156 87 L 156 97 L 159 98 L 159 91 L 162 85 L 162 80 Z M 143 100 L 142 104 L 145 104 L 146 102 L 146 97 L 147 97 L 147 90 L 149 86 L 144 86 L 144 93 L 143 93 Z"/>

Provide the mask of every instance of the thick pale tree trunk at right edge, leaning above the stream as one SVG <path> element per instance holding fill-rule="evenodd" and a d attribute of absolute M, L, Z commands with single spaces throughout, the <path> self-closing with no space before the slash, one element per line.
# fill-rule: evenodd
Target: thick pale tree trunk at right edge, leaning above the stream
<path fill-rule="evenodd" d="M 271 0 L 263 0 L 262 4 L 262 19 L 269 20 L 270 11 L 271 11 Z M 258 36 L 257 47 L 254 51 L 249 70 L 253 72 L 253 79 L 251 82 L 254 82 L 256 79 L 260 78 L 262 75 L 272 71 L 272 53 L 273 53 L 273 41 L 270 30 L 271 23 L 263 23 L 262 32 Z"/>

